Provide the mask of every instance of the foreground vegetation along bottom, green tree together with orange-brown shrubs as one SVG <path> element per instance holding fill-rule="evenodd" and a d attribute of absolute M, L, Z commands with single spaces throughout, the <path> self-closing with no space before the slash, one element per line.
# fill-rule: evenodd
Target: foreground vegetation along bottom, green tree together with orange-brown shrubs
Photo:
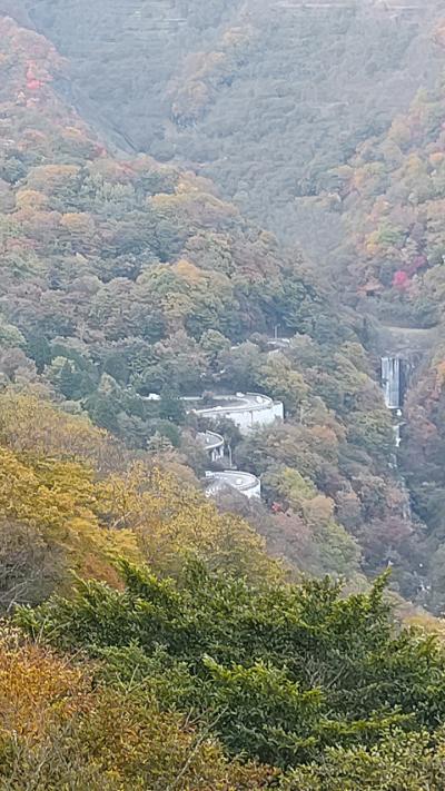
<path fill-rule="evenodd" d="M 17 612 L 31 642 L 2 639 L 4 783 L 443 788 L 443 649 L 394 629 L 382 581 L 345 599 L 328 581 L 255 587 L 196 562 L 177 581 L 119 568 L 123 590 L 79 582 Z"/>

